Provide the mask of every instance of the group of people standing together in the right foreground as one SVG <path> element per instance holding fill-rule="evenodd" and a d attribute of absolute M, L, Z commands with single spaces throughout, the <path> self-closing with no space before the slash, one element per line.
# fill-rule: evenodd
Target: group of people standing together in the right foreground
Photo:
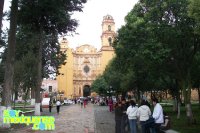
<path fill-rule="evenodd" d="M 155 97 L 152 103 L 153 113 L 147 100 L 142 100 L 139 107 L 134 100 L 118 102 L 115 108 L 116 133 L 126 133 L 126 126 L 130 133 L 137 133 L 137 121 L 142 133 L 160 133 L 161 124 L 164 123 L 163 108 Z"/>

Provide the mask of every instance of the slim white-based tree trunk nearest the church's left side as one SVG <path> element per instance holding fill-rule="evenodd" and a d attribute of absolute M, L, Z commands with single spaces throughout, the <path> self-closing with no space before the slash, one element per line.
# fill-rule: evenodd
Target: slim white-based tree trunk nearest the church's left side
<path fill-rule="evenodd" d="M 40 89 L 42 84 L 42 31 L 39 33 L 38 38 L 38 69 L 37 69 L 37 87 L 35 89 L 35 115 L 40 115 L 41 98 Z"/>

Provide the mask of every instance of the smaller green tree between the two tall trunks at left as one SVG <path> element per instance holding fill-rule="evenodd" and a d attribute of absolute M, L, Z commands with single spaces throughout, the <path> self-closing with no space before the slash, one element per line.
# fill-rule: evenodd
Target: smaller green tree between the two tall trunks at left
<path fill-rule="evenodd" d="M 24 55 L 21 60 L 15 62 L 15 86 L 13 93 L 15 94 L 15 96 L 18 96 L 19 92 L 24 92 L 24 105 L 26 104 L 27 96 L 30 92 L 30 89 L 31 91 L 34 91 L 34 89 L 36 88 L 35 81 L 37 78 L 37 66 L 35 65 L 35 62 L 37 62 L 37 59 L 35 57 L 35 54 L 33 54 L 31 51 Z M 15 97 L 15 99 L 16 98 L 17 97 Z"/>

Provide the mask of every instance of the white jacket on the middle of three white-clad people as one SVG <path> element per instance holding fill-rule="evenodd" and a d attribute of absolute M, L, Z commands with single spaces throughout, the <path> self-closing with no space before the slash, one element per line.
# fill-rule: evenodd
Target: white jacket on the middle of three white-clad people
<path fill-rule="evenodd" d="M 139 117 L 140 121 L 148 120 L 150 115 L 151 115 L 151 110 L 147 105 L 142 105 L 138 108 L 137 116 Z"/>

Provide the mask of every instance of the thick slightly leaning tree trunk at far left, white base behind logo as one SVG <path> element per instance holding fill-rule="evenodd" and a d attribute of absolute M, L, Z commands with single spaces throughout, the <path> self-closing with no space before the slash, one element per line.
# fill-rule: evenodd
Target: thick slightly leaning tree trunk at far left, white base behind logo
<path fill-rule="evenodd" d="M 13 75 L 14 75 L 14 59 L 16 47 L 16 27 L 17 27 L 17 11 L 18 0 L 12 0 L 11 14 L 10 14 L 10 30 L 8 33 L 8 50 L 6 55 L 4 86 L 3 86 L 3 99 L 0 112 L 5 109 L 11 109 L 12 103 L 12 89 L 13 89 Z M 3 123 L 3 114 L 0 113 L 0 123 Z M 10 124 L 2 124 L 1 127 L 10 127 Z"/>

